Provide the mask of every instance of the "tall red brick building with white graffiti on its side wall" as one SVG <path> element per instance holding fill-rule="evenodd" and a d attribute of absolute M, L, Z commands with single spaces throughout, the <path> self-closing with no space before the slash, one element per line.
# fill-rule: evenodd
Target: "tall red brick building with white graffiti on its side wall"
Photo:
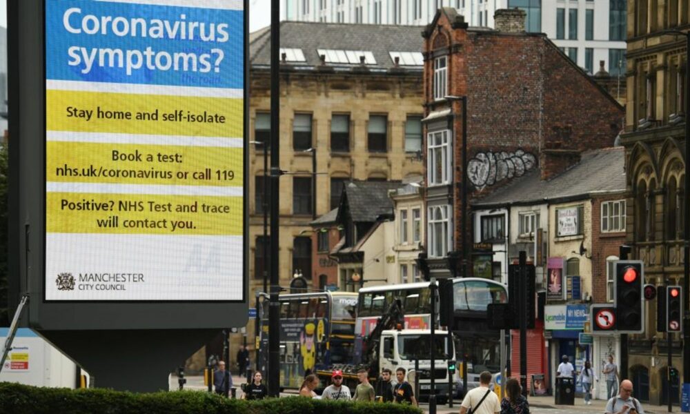
<path fill-rule="evenodd" d="M 470 198 L 538 166 L 544 178 L 555 175 L 583 150 L 612 146 L 622 127 L 618 102 L 544 34 L 525 33 L 522 10 L 497 10 L 495 21 L 497 30 L 469 28 L 442 8 L 423 33 L 426 248 L 435 277 L 450 276 L 446 254 L 462 259 L 464 250 L 463 122 Z M 467 99 L 467 119 L 458 97 Z"/>

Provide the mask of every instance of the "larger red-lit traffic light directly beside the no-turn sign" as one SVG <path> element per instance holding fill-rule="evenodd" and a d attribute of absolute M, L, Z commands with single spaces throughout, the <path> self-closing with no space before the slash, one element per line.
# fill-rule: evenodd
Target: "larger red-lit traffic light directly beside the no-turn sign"
<path fill-rule="evenodd" d="M 642 262 L 638 260 L 615 262 L 615 319 L 620 333 L 644 332 L 642 286 L 644 286 Z"/>

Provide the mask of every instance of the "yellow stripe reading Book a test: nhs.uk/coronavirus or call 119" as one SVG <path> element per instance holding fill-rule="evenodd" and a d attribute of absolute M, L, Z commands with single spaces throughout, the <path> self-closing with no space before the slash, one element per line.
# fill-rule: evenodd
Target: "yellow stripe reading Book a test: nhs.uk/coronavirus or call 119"
<path fill-rule="evenodd" d="M 46 179 L 103 184 L 243 185 L 243 148 L 48 141 Z"/>

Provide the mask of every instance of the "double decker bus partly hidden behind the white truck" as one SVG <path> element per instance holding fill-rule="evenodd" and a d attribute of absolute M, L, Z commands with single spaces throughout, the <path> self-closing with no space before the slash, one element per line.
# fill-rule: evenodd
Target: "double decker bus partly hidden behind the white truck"
<path fill-rule="evenodd" d="M 355 361 L 364 350 L 366 337 L 377 319 L 395 300 L 400 300 L 406 329 L 429 329 L 431 290 L 429 282 L 373 286 L 359 289 L 355 322 Z M 453 279 L 453 321 L 449 328 L 455 340 L 455 358 L 465 361 L 468 388 L 476 386 L 482 371 L 500 372 L 500 331 L 489 329 L 486 308 L 507 303 L 508 291 L 500 282 L 481 277 Z"/>

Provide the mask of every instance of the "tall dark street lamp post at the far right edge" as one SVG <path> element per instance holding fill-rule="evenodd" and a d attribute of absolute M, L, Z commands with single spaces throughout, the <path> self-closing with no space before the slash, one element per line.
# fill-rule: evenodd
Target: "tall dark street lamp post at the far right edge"
<path fill-rule="evenodd" d="M 683 384 L 690 382 L 690 177 L 688 163 L 690 163 L 690 82 L 688 72 L 690 72 L 690 32 L 680 30 L 664 30 L 662 34 L 680 34 L 685 37 L 685 188 L 684 188 L 684 217 L 683 217 Z M 671 335 L 671 333 L 667 333 Z M 669 348 L 669 353 L 671 348 Z M 669 397 L 670 399 L 670 397 Z"/>

